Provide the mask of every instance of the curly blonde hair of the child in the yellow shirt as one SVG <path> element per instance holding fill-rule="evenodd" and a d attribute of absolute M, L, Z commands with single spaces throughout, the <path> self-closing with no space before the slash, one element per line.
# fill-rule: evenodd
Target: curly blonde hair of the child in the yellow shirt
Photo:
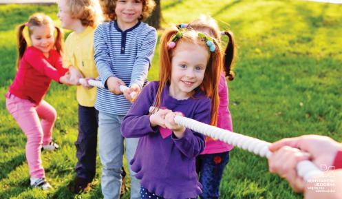
<path fill-rule="evenodd" d="M 74 19 L 82 25 L 96 27 L 103 20 L 100 4 L 96 0 L 66 0 L 66 6 Z"/>

